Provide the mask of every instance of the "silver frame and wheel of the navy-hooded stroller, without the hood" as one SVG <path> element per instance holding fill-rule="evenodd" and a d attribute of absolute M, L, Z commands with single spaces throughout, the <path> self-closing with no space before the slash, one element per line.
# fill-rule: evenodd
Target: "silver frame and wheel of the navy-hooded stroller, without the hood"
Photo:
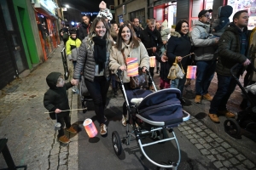
<path fill-rule="evenodd" d="M 154 89 L 155 89 L 155 92 L 156 92 L 157 89 L 155 88 L 153 78 L 150 76 L 149 71 L 147 71 L 147 74 L 148 74 L 149 78 L 151 79 L 152 84 L 153 84 Z M 113 142 L 113 150 L 114 150 L 115 154 L 117 156 L 119 156 L 121 154 L 121 152 L 122 152 L 121 142 L 123 144 L 130 145 L 131 137 L 133 137 L 137 140 L 137 143 L 139 144 L 140 149 L 143 152 L 143 156 L 145 156 L 148 159 L 148 161 L 150 161 L 151 163 L 153 163 L 157 167 L 172 168 L 173 170 L 176 170 L 178 164 L 180 163 L 181 154 L 180 154 L 179 144 L 177 142 L 177 138 L 176 138 L 175 133 L 173 132 L 172 127 L 170 127 L 170 128 L 167 127 L 166 122 L 154 122 L 154 121 L 148 120 L 147 118 L 145 118 L 145 117 L 143 117 L 139 114 L 135 114 L 135 115 L 133 114 L 132 115 L 133 112 L 131 111 L 131 109 L 137 110 L 137 107 L 135 105 L 130 105 L 129 104 L 129 101 L 128 101 L 126 93 L 125 93 L 125 87 L 124 87 L 124 83 L 122 81 L 120 71 L 117 72 L 117 75 L 119 77 L 119 80 L 120 80 L 120 83 L 121 83 L 121 86 L 122 86 L 122 90 L 123 90 L 124 95 L 125 95 L 125 102 L 126 102 L 126 107 L 127 107 L 127 111 L 128 111 L 128 114 L 127 114 L 128 118 L 127 118 L 126 122 L 131 123 L 131 126 L 133 127 L 133 130 L 131 132 L 129 131 L 129 123 L 127 123 L 127 125 L 126 125 L 126 136 L 124 138 L 122 138 L 121 140 L 119 138 L 119 134 L 116 131 L 113 131 L 113 133 L 112 133 L 112 142 Z M 183 122 L 188 121 L 189 116 L 190 116 L 189 113 L 186 112 L 186 111 L 183 111 L 183 114 L 186 115 L 186 116 L 183 117 Z M 150 125 L 153 125 L 154 127 L 151 127 L 148 130 L 145 130 L 145 129 L 142 130 L 140 127 L 137 127 L 137 123 L 136 123 L 137 118 L 139 118 L 143 122 L 146 122 Z M 173 122 L 173 123 L 175 123 L 175 122 Z M 170 137 L 170 138 L 167 137 L 166 130 L 168 130 L 169 133 L 172 133 L 172 137 Z M 157 132 L 159 132 L 159 131 L 161 131 L 163 133 L 163 139 L 160 139 L 160 140 L 157 140 L 157 141 L 154 141 L 154 142 L 150 142 L 148 144 L 143 144 L 142 143 L 142 141 L 141 141 L 142 135 L 151 134 L 151 137 L 156 137 Z M 144 147 L 146 147 L 146 146 L 153 145 L 153 144 L 164 143 L 164 142 L 169 141 L 169 140 L 175 140 L 175 143 L 176 143 L 176 146 L 177 146 L 177 154 L 178 154 L 177 162 L 168 161 L 169 165 L 159 164 L 159 163 L 153 161 L 147 155 L 147 153 L 144 150 Z"/>

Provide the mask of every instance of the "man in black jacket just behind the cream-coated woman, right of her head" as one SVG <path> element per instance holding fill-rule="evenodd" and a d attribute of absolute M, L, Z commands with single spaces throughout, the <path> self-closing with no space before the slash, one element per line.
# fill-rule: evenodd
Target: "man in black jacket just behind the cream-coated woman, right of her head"
<path fill-rule="evenodd" d="M 145 48 L 147 48 L 148 56 L 160 56 L 160 48 L 163 45 L 162 38 L 160 35 L 160 31 L 155 29 L 155 20 L 150 19 L 148 22 L 148 26 L 145 30 L 141 31 L 140 36 Z M 149 67 L 150 75 L 154 77 L 154 67 Z M 148 81 L 148 86 L 150 87 L 152 82 Z M 152 87 L 151 87 L 152 89 Z"/>

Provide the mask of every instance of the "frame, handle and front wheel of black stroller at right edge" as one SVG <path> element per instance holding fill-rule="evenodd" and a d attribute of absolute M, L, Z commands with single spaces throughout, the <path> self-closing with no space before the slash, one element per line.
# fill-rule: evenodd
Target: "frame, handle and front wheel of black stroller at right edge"
<path fill-rule="evenodd" d="M 245 88 L 242 87 L 241 82 L 239 81 L 238 77 L 236 77 L 236 75 L 234 74 L 234 69 L 238 65 L 239 64 L 237 63 L 236 65 L 231 67 L 230 73 L 231 73 L 232 77 L 236 80 L 236 83 L 239 86 L 239 88 L 241 88 L 241 92 L 244 95 L 244 98 L 250 102 L 250 106 L 247 107 L 246 111 L 244 112 L 244 114 L 246 114 L 246 115 L 243 115 L 240 118 L 238 117 L 235 121 L 234 121 L 234 119 L 230 119 L 230 118 L 224 121 L 224 131 L 235 139 L 241 139 L 241 123 L 245 120 L 244 117 L 250 116 L 252 114 L 254 114 L 254 115 L 256 114 L 255 102 L 253 101 L 253 99 L 251 99 L 249 97 Z M 252 65 L 252 68 L 253 68 L 253 71 L 256 71 L 256 69 L 253 65 Z M 254 123 L 256 123 L 256 122 L 254 122 Z M 246 128 L 244 128 L 244 129 L 247 130 Z"/>

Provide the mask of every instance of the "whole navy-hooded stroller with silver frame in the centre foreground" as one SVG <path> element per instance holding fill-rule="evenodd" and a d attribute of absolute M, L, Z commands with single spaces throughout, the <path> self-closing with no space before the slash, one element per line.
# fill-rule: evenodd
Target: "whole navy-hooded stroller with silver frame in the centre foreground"
<path fill-rule="evenodd" d="M 151 79 L 153 85 L 153 79 L 147 71 L 149 78 Z M 122 143 L 130 145 L 131 137 L 137 140 L 140 149 L 143 152 L 148 161 L 153 163 L 157 167 L 172 168 L 177 169 L 180 162 L 180 149 L 177 143 L 177 138 L 172 130 L 172 127 L 177 127 L 181 122 L 189 120 L 189 113 L 182 110 L 182 105 L 179 101 L 180 91 L 176 88 L 167 88 L 160 91 L 151 92 L 149 90 L 127 90 L 125 91 L 124 83 L 122 82 L 121 74 L 118 72 L 120 83 L 122 85 L 122 90 L 125 96 L 125 102 L 127 106 L 127 111 L 129 118 L 126 125 L 126 136 L 122 139 L 119 138 L 119 133 L 113 131 L 112 133 L 112 143 L 113 150 L 117 156 L 122 152 Z M 140 104 L 134 105 L 131 103 L 131 98 L 143 98 Z M 131 124 L 133 130 L 129 132 L 129 123 Z M 168 137 L 166 130 L 172 133 L 172 137 Z M 141 139 L 153 136 L 160 136 L 162 138 L 147 144 L 143 144 Z M 162 165 L 156 161 L 153 161 L 145 152 L 144 148 L 149 145 L 164 143 L 166 141 L 175 140 L 177 145 L 177 162 L 169 161 L 169 165 Z"/>

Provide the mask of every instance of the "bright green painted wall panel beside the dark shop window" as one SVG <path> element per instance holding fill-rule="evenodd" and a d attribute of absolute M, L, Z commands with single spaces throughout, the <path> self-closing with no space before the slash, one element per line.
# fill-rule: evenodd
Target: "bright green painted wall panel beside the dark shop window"
<path fill-rule="evenodd" d="M 27 64 L 29 69 L 32 69 L 32 64 L 38 64 L 40 62 L 38 48 L 32 33 L 32 24 L 36 25 L 36 22 L 33 23 L 33 21 L 30 20 L 26 0 L 13 0 L 13 3 Z"/>

